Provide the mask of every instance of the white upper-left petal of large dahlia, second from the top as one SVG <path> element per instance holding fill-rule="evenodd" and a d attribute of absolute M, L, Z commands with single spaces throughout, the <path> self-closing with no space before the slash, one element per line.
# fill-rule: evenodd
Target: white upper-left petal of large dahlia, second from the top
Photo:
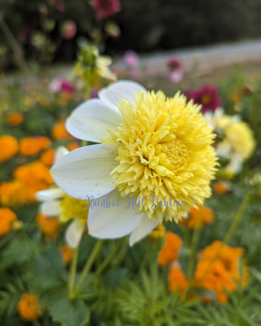
<path fill-rule="evenodd" d="M 66 129 L 78 139 L 101 142 L 103 137 L 109 136 L 106 128 L 116 131 L 122 122 L 119 111 L 115 112 L 100 99 L 91 99 L 72 112 Z"/>

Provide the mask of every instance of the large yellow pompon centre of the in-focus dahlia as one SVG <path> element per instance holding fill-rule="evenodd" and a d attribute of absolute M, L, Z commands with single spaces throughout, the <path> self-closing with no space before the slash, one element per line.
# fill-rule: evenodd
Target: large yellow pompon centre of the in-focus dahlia
<path fill-rule="evenodd" d="M 135 95 L 135 105 L 118 103 L 124 122 L 117 132 L 108 130 L 103 142 L 119 144 L 119 165 L 111 178 L 121 196 L 142 200 L 139 211 L 155 220 L 176 221 L 194 204 L 211 194 L 216 158 L 214 135 L 200 106 L 177 93 Z M 138 199 L 137 199 L 138 202 Z"/>

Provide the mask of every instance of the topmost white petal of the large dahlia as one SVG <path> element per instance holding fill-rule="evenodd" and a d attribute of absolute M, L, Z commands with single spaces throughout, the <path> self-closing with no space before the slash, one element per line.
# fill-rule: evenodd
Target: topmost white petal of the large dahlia
<path fill-rule="evenodd" d="M 98 96 L 104 103 L 110 105 L 116 112 L 119 112 L 117 106 L 118 102 L 122 101 L 122 99 L 126 99 L 129 100 L 132 105 L 135 105 L 134 93 L 139 94 L 141 91 L 147 93 L 142 85 L 133 81 L 123 80 L 110 84 L 107 88 L 103 88 L 98 92 Z"/>

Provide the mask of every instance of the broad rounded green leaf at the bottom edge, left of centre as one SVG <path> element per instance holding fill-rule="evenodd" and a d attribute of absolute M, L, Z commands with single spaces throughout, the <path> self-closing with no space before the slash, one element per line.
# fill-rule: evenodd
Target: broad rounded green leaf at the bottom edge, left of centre
<path fill-rule="evenodd" d="M 48 310 L 54 322 L 65 326 L 86 326 L 90 319 L 89 308 L 80 300 L 63 298 L 53 303 Z"/>

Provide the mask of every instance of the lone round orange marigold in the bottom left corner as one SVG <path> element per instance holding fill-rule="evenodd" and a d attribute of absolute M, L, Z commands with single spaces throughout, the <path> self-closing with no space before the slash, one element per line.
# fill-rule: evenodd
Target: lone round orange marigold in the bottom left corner
<path fill-rule="evenodd" d="M 34 294 L 24 293 L 18 303 L 18 314 L 25 321 L 34 321 L 43 314 L 38 297 Z"/>

